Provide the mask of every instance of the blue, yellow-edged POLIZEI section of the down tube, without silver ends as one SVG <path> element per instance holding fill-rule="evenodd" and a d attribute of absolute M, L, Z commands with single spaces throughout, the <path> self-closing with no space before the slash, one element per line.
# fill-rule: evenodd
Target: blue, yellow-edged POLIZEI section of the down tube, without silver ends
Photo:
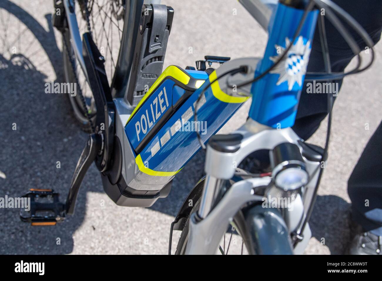
<path fill-rule="evenodd" d="M 206 143 L 248 99 L 224 93 L 219 82 L 206 88 L 217 75 L 216 70 L 208 75 L 205 71 L 181 70 L 172 65 L 155 81 L 125 126 L 141 172 L 175 175 L 201 148 L 194 131 L 200 131 Z M 195 123 L 196 101 L 204 88 Z M 136 177 L 144 182 L 139 175 Z"/>

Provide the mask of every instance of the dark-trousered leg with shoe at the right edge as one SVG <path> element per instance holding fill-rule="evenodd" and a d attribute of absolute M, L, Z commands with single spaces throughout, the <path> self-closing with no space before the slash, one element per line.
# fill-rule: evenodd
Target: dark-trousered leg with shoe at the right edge
<path fill-rule="evenodd" d="M 352 219 L 356 228 L 351 254 L 382 251 L 382 122 L 367 143 L 348 180 Z"/>

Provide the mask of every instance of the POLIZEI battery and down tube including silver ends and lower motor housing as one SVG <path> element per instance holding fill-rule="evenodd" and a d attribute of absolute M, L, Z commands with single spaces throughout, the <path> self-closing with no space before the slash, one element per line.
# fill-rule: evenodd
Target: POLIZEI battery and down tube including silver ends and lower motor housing
<path fill-rule="evenodd" d="M 103 177 L 109 197 L 118 205 L 145 207 L 166 197 L 172 179 L 201 148 L 196 131 L 207 143 L 249 98 L 227 86 L 228 76 L 211 86 L 209 82 L 224 71 L 256 62 L 251 58 L 229 61 L 210 75 L 175 65 L 167 67 L 125 121 L 123 134 L 117 132 L 124 161 L 118 164 L 122 166 L 118 182 Z M 254 69 L 237 75 L 244 81 L 253 73 Z M 250 85 L 246 93 L 249 91 Z"/>

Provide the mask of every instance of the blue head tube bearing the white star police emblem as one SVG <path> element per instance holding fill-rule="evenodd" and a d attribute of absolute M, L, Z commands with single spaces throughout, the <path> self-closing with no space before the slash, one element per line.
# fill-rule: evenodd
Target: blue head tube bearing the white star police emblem
<path fill-rule="evenodd" d="M 293 40 L 303 8 L 278 3 L 269 24 L 269 40 L 255 77 L 277 61 Z M 272 128 L 287 128 L 295 123 L 298 101 L 309 61 L 318 10 L 308 12 L 303 27 L 283 60 L 253 84 L 249 117 Z"/>

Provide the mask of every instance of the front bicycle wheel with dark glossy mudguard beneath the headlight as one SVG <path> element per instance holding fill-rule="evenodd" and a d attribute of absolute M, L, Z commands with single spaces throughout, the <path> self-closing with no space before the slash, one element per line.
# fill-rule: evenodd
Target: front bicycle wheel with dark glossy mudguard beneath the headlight
<path fill-rule="evenodd" d="M 204 180 L 200 181 L 196 188 L 201 188 L 202 185 L 204 185 Z M 229 186 L 229 182 L 227 185 Z M 199 209 L 199 204 L 200 198 L 185 221 L 176 247 L 176 255 L 184 255 L 186 252 L 189 238 L 189 218 Z M 227 231 L 228 239 L 226 239 L 226 232 L 220 240 L 218 252 L 223 255 L 293 254 L 288 228 L 277 208 L 263 208 L 259 203 L 248 203 L 246 206 L 241 206 L 230 225 Z"/>

